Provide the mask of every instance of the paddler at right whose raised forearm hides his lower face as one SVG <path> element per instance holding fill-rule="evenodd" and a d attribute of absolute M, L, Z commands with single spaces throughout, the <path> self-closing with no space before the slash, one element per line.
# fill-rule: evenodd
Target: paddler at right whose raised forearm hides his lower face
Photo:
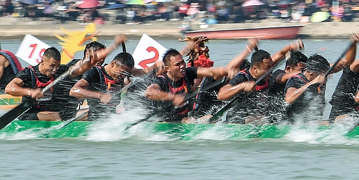
<path fill-rule="evenodd" d="M 340 59 L 331 70 L 331 73 L 337 73 L 347 68 L 354 61 L 358 37 L 357 33 L 352 35 L 350 48 L 345 57 Z M 285 87 L 285 101 L 290 104 L 287 111 L 290 122 L 316 120 L 327 123 L 327 121 L 320 120 L 323 119 L 322 115 L 325 109 L 326 84 L 323 83 L 326 81 L 326 77 L 323 75 L 330 66 L 331 64 L 326 58 L 314 54 L 308 58 L 306 70 L 291 76 L 288 80 Z"/>

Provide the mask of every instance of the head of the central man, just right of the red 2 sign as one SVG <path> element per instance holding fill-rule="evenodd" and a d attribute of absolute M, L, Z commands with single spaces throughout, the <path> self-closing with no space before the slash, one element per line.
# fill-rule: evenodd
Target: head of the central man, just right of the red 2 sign
<path fill-rule="evenodd" d="M 164 67 L 171 78 L 183 78 L 186 75 L 186 63 L 180 52 L 176 49 L 168 49 L 163 56 Z"/>

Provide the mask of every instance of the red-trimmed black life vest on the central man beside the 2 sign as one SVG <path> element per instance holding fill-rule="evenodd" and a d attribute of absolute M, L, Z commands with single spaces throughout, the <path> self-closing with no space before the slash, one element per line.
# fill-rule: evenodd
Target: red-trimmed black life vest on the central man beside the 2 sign
<path fill-rule="evenodd" d="M 163 78 L 167 84 L 168 84 L 168 92 L 172 93 L 172 94 L 184 94 L 186 93 L 187 96 L 189 96 L 191 94 L 191 83 L 188 80 L 187 77 L 182 78 L 182 85 L 180 87 L 172 87 L 171 84 L 169 83 L 168 79 L 166 76 L 158 76 Z M 191 109 L 191 105 L 190 105 L 190 101 L 189 99 L 187 99 L 186 102 L 184 102 L 181 105 L 176 105 L 175 106 L 175 114 L 177 114 L 178 116 L 184 115 L 188 112 L 190 112 Z"/>

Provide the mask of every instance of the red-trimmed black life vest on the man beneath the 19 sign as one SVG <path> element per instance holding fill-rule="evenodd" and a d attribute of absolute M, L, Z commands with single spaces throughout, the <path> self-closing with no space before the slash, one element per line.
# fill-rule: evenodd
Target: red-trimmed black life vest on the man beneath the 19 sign
<path fill-rule="evenodd" d="M 54 77 L 52 76 L 48 82 L 43 83 L 37 78 L 37 76 L 35 74 L 35 69 L 32 66 L 25 67 L 25 68 L 28 68 L 30 70 L 31 80 L 32 80 L 31 88 L 33 88 L 33 89 L 44 88 L 45 86 L 49 85 L 54 80 Z M 37 102 L 50 101 L 51 98 L 52 98 L 52 88 L 50 88 L 49 91 L 45 92 L 44 97 L 42 97 L 41 99 L 38 99 Z M 36 105 L 36 106 L 40 108 L 40 105 Z"/>

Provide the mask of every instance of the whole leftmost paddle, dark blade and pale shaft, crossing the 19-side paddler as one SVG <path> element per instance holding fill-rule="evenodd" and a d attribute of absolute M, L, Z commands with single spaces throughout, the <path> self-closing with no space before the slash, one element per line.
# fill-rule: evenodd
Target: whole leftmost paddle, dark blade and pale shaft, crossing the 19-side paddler
<path fill-rule="evenodd" d="M 52 81 L 50 84 L 48 84 L 46 87 L 42 89 L 42 92 L 47 92 L 50 88 L 52 88 L 55 84 L 57 84 L 59 81 L 65 79 L 66 77 L 72 75 L 75 70 L 79 69 L 84 63 L 89 62 L 90 59 L 86 59 L 82 63 L 78 65 L 71 66 L 64 74 L 60 75 L 58 78 L 56 78 L 54 81 Z M 28 111 L 33 104 L 35 103 L 35 99 L 27 99 L 18 106 L 16 106 L 14 109 L 10 110 L 9 112 L 5 113 L 2 117 L 0 117 L 0 130 L 3 129 L 7 124 L 9 124 L 11 121 L 16 119 L 18 116 L 22 115 L 26 111 Z"/>

